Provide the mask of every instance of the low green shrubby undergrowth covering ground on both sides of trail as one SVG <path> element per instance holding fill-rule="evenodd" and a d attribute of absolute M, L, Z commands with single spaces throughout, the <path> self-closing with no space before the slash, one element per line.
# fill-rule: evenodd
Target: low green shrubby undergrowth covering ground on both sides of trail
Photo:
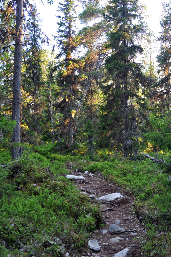
<path fill-rule="evenodd" d="M 140 246 L 143 256 L 169 256 L 171 213 L 161 203 L 168 197 L 164 185 L 169 175 L 149 159 L 130 161 L 105 150 L 93 156 L 81 151 L 62 155 L 55 144 L 44 144 L 12 163 L 10 153 L 0 151 L 1 163 L 7 164 L 0 167 L 0 256 L 63 256 L 79 250 L 88 233 L 101 226 L 98 206 L 65 178 L 77 168 L 99 172 L 134 194 L 134 211 L 147 228 Z"/>

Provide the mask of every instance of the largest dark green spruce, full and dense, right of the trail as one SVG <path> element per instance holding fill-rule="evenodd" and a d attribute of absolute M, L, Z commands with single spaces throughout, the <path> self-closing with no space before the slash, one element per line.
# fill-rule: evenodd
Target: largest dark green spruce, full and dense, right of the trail
<path fill-rule="evenodd" d="M 113 24 L 113 31 L 106 43 L 106 50 L 112 53 L 105 60 L 106 103 L 102 107 L 100 145 L 122 150 L 125 157 L 131 158 L 138 144 L 136 109 L 143 101 L 138 92 L 140 86 L 145 86 L 141 66 L 134 60 L 143 52 L 135 43 L 142 28 L 139 9 L 138 0 L 112 0 L 104 15 Z"/>

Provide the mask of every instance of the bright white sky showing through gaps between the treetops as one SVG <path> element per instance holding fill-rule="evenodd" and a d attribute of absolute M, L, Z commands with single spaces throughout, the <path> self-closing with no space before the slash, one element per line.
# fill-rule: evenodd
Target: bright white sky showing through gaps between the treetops
<path fill-rule="evenodd" d="M 54 0 L 52 5 L 47 4 L 47 0 L 34 0 L 38 9 L 38 13 L 40 13 L 40 18 L 43 19 L 42 22 L 42 31 L 53 41 L 52 35 L 57 35 L 57 9 L 59 5 L 59 1 L 62 0 Z M 167 1 L 166 1 L 167 2 Z M 160 17 L 162 13 L 162 3 L 161 0 L 140 0 L 140 3 L 143 3 L 147 6 L 147 15 L 146 22 L 148 22 L 148 27 L 151 31 L 158 36 L 158 32 L 160 31 Z M 78 10 L 79 11 L 79 10 Z M 50 50 L 50 49 L 49 49 Z M 57 49 L 56 49 L 57 50 Z"/>

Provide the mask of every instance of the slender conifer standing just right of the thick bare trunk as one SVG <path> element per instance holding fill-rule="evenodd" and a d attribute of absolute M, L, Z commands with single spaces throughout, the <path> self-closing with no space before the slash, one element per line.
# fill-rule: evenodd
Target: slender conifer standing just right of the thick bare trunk
<path fill-rule="evenodd" d="M 23 73 L 23 90 L 29 94 L 30 100 L 23 105 L 23 115 L 29 121 L 27 125 L 31 131 L 41 133 L 43 116 L 41 114 L 44 103 L 41 97 L 43 87 L 42 79 L 42 58 L 41 49 L 42 33 L 40 29 L 41 20 L 37 13 L 37 8 L 33 5 L 28 13 L 28 21 L 25 25 L 27 29 L 27 38 L 24 41 L 24 63 L 25 71 Z M 30 110 L 29 113 L 27 110 Z"/>

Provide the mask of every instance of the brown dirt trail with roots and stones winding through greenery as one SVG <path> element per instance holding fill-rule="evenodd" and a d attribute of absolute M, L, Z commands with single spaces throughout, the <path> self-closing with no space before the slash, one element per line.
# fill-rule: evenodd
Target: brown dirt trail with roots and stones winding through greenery
<path fill-rule="evenodd" d="M 73 173 L 74 174 L 72 175 L 78 175 L 77 172 Z M 98 240 L 98 244 L 101 246 L 100 251 L 94 252 L 87 244 L 82 252 L 77 254 L 76 257 L 114 257 L 117 252 L 120 252 L 127 247 L 131 248 L 126 256 L 142 256 L 139 245 L 142 243 L 142 238 L 145 237 L 146 229 L 144 223 L 140 222 L 138 217 L 133 213 L 135 198 L 132 195 L 128 195 L 128 192 L 124 191 L 122 188 L 110 183 L 99 173 L 96 173 L 93 177 L 84 174 L 83 176 L 86 178 L 86 181 L 76 180 L 74 184 L 81 192 L 86 192 L 87 195 L 93 194 L 95 196 L 93 199 L 98 196 L 104 196 L 115 192 L 122 194 L 124 198 L 116 199 L 112 202 L 101 202 L 100 210 L 105 223 L 102 229 L 108 230 L 108 232 L 102 234 L 102 231 L 96 230 L 91 234 L 91 238 L 89 238 Z M 97 200 L 94 201 L 97 202 Z M 112 234 L 109 232 L 109 226 L 115 224 L 116 219 L 121 221 L 118 226 L 124 228 L 126 232 Z M 137 235 L 132 235 L 132 233 L 137 233 Z M 116 237 L 119 237 L 119 242 L 114 244 L 110 243 L 110 239 Z"/>

